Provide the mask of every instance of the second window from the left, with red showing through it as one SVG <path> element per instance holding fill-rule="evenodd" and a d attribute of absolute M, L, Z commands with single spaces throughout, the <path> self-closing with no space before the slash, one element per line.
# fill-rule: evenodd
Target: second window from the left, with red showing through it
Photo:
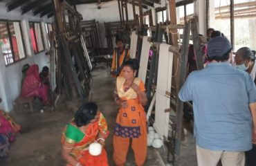
<path fill-rule="evenodd" d="M 29 28 L 30 28 L 30 35 L 31 35 L 34 53 L 39 53 L 44 50 L 42 29 L 41 29 L 40 23 L 30 22 Z"/>

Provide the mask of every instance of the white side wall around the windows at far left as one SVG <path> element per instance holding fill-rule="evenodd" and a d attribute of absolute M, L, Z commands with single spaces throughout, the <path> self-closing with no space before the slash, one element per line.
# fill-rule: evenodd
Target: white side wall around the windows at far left
<path fill-rule="evenodd" d="M 25 15 L 21 15 L 21 10 L 15 9 L 11 12 L 7 12 L 6 4 L 0 3 L 0 19 L 8 19 L 14 21 L 21 21 L 21 28 L 24 31 L 24 42 L 29 42 L 26 45 L 26 59 L 22 59 L 19 62 L 15 62 L 9 66 L 5 65 L 2 52 L 0 50 L 0 96 L 3 102 L 0 104 L 0 109 L 4 111 L 11 111 L 13 107 L 13 102 L 19 95 L 21 91 L 21 68 L 24 64 L 38 64 L 39 70 L 41 71 L 43 66 L 48 66 L 48 57 L 46 57 L 46 50 L 42 53 L 34 55 L 32 45 L 30 42 L 30 33 L 28 30 L 28 21 L 47 21 L 53 22 L 53 18 L 40 18 L 34 17 L 32 12 L 28 12 Z M 43 31 L 45 27 L 43 26 Z M 45 39 L 44 39 L 45 40 Z"/>

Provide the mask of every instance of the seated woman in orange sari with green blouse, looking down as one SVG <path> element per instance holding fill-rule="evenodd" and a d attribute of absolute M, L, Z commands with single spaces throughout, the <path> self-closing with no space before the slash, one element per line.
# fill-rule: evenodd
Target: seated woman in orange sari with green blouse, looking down
<path fill-rule="evenodd" d="M 68 163 L 67 166 L 107 166 L 107 152 L 104 148 L 99 156 L 92 156 L 88 150 L 93 142 L 104 146 L 107 136 L 107 122 L 97 104 L 83 104 L 62 133 L 62 155 Z"/>

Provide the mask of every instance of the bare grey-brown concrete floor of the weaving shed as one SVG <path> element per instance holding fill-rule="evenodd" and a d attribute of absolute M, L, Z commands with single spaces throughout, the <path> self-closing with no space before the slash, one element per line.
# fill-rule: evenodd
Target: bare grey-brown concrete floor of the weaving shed
<path fill-rule="evenodd" d="M 115 80 L 109 77 L 109 69 L 105 66 L 96 66 L 92 72 L 93 82 L 91 84 L 91 101 L 96 102 L 100 111 L 107 118 L 109 130 L 111 131 L 107 139 L 106 149 L 109 157 L 109 165 L 113 165 L 112 154 L 112 134 L 116 121 L 118 109 L 113 102 L 113 89 Z M 23 131 L 17 136 L 17 140 L 11 145 L 10 156 L 1 158 L 0 165 L 5 166 L 64 166 L 65 162 L 61 156 L 62 145 L 60 138 L 65 124 L 73 117 L 72 111 L 68 110 L 65 102 L 59 102 L 54 112 L 48 109 L 40 113 L 40 104 L 35 113 L 31 115 L 28 110 L 22 110 L 20 116 L 12 113 L 13 118 L 23 127 Z M 145 165 L 161 166 L 167 164 L 167 149 L 154 149 L 149 147 L 147 161 Z M 127 156 L 128 166 L 133 166 L 134 156 L 130 150 Z M 181 160 L 179 165 L 196 165 L 195 147 L 191 134 L 186 136 L 182 143 Z"/>

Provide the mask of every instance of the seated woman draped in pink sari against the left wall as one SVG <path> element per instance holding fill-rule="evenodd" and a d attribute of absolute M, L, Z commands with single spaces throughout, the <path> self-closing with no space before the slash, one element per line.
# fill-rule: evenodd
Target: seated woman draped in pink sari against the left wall
<path fill-rule="evenodd" d="M 49 104 L 48 91 L 49 86 L 43 84 L 39 77 L 38 65 L 33 64 L 26 71 L 26 76 L 22 83 L 21 95 L 25 97 L 37 96 L 42 98 L 44 104 Z"/>

